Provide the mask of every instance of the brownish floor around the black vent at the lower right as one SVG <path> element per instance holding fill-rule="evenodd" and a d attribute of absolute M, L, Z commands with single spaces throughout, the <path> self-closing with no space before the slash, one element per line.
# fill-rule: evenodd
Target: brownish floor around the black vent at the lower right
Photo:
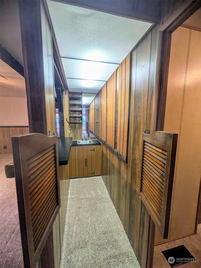
<path fill-rule="evenodd" d="M 182 268 L 200 268 L 201 267 L 201 224 L 198 225 L 198 232 L 196 235 L 181 238 L 165 244 L 154 247 L 154 261 L 153 268 L 170 268 L 169 263 L 161 251 L 175 248 L 184 245 L 188 251 L 196 258 L 196 262 L 189 262 L 180 265 Z M 180 267 L 178 266 L 178 267 Z"/>

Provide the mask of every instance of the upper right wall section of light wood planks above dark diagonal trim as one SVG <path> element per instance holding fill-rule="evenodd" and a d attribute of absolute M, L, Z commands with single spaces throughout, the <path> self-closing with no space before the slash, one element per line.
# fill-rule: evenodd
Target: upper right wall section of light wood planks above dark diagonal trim
<path fill-rule="evenodd" d="M 90 122 L 90 131 L 116 149 L 124 158 L 127 158 L 128 147 L 129 91 L 130 54 L 90 103 L 90 121 L 95 121 Z"/>

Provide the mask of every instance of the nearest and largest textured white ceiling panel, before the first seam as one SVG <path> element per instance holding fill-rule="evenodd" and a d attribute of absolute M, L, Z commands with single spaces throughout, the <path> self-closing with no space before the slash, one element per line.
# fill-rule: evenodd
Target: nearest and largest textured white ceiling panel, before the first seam
<path fill-rule="evenodd" d="M 152 25 L 64 3 L 47 3 L 62 57 L 120 64 Z"/>

